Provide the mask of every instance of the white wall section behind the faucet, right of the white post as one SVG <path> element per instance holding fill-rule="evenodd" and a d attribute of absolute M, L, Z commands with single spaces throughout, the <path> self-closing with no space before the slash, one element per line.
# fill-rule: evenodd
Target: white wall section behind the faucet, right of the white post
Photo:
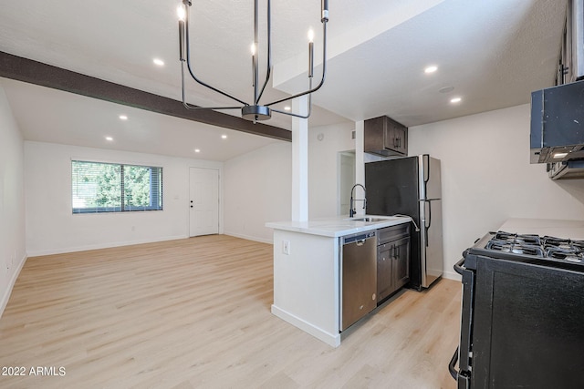
<path fill-rule="evenodd" d="M 337 215 L 339 151 L 355 149 L 353 123 L 310 128 L 308 132 L 308 218 Z M 318 136 L 321 135 L 321 140 Z"/>

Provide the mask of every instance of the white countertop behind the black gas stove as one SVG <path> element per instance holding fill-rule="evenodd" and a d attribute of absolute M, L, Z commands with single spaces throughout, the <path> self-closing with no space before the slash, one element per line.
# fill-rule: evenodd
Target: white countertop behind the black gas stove
<path fill-rule="evenodd" d="M 575 241 L 584 240 L 584 220 L 509 219 L 499 230 L 518 234 L 569 238 Z"/>

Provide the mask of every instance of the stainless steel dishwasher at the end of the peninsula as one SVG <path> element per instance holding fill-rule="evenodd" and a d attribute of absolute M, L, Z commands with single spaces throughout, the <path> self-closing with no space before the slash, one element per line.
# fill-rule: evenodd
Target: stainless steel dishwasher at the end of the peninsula
<path fill-rule="evenodd" d="M 377 306 L 376 231 L 344 236 L 340 244 L 340 331 L 344 331 Z"/>

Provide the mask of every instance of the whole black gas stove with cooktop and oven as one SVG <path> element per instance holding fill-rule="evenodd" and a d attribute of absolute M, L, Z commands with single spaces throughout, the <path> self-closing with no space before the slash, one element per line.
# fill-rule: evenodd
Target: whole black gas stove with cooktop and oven
<path fill-rule="evenodd" d="M 463 257 L 458 387 L 584 388 L 584 241 L 499 230 Z"/>

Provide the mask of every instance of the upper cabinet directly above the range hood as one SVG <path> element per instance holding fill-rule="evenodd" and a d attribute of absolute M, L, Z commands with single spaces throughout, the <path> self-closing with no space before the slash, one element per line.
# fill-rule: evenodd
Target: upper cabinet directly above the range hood
<path fill-rule="evenodd" d="M 569 0 L 556 85 L 584 78 L 584 0 Z"/>

